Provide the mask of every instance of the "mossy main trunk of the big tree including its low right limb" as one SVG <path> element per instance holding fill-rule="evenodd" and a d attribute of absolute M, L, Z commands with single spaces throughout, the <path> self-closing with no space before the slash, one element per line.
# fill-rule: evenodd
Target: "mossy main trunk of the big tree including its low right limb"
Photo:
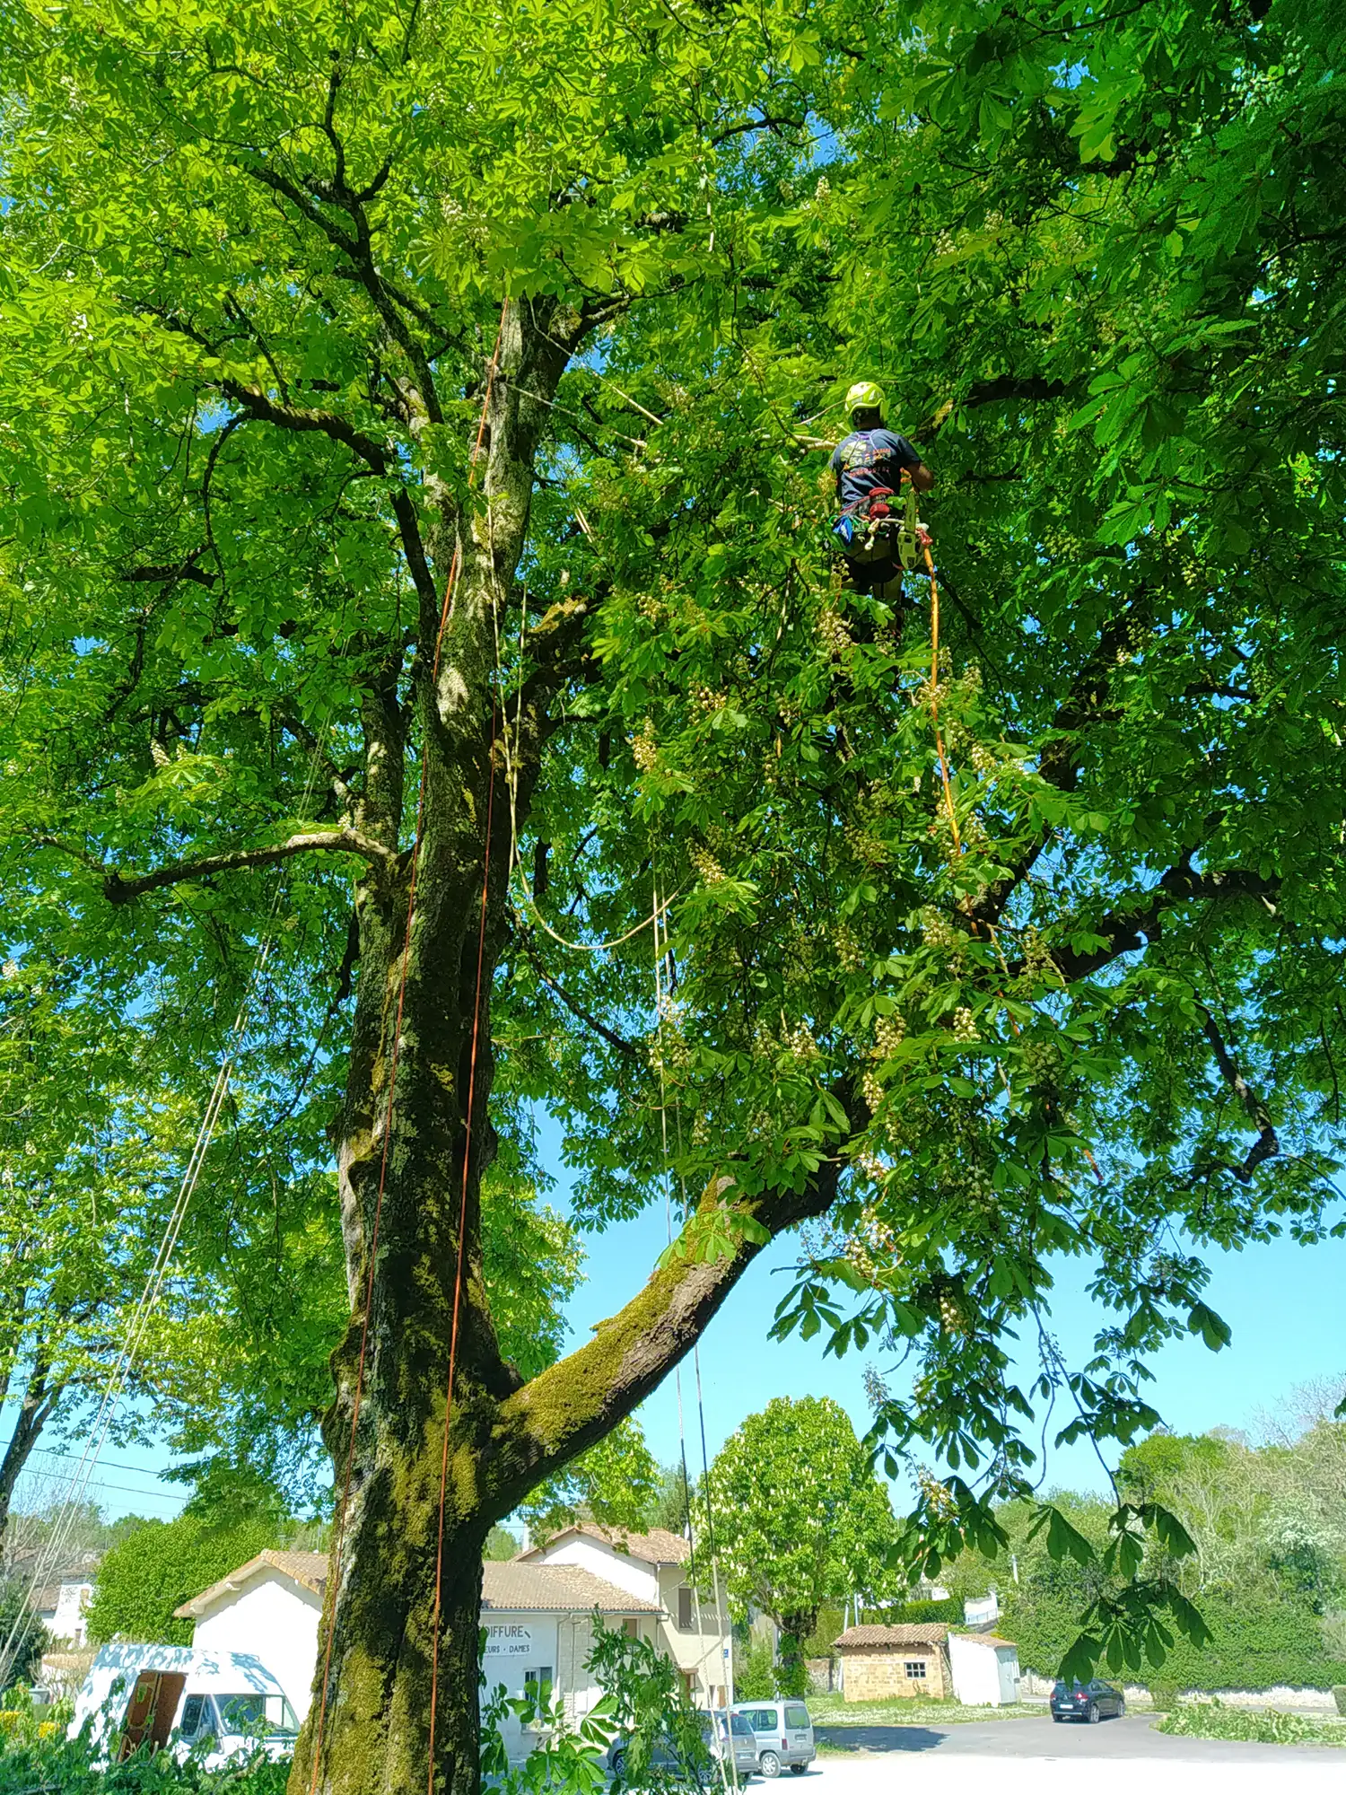
<path fill-rule="evenodd" d="M 357 890 L 361 976 L 337 1152 L 352 1319 L 334 1355 L 325 1438 L 345 1499 L 291 1795 L 476 1795 L 481 1562 L 492 1524 L 660 1382 L 756 1251 L 743 1244 L 732 1258 L 657 1271 L 594 1341 L 531 1382 L 501 1357 L 479 1181 L 494 1151 L 490 989 L 506 937 L 510 804 L 526 815 L 551 702 L 583 653 L 585 603 L 558 607 L 531 634 L 531 671 L 522 695 L 510 696 L 511 792 L 492 686 L 495 626 L 524 547 L 544 402 L 590 323 L 551 303 L 511 309 L 479 503 L 458 513 L 443 497 L 433 555 L 406 508 L 398 515 L 420 601 L 413 714 L 424 810 L 413 905 L 400 845 L 418 793 L 404 774 L 409 731 L 391 661 L 366 693 L 366 781 L 354 817 L 388 854 L 373 858 Z M 454 544 L 461 574 L 431 677 Z M 725 1190 L 707 1201 L 716 1195 Z M 775 1231 L 831 1197 L 824 1176 L 802 1195 L 754 1199 L 752 1213 Z"/>

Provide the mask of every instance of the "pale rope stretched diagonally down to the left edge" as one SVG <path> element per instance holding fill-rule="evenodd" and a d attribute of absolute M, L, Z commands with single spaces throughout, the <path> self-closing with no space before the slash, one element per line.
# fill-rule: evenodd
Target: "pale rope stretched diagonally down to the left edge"
<path fill-rule="evenodd" d="M 300 801 L 300 815 L 307 813 L 309 810 L 309 801 L 312 797 L 314 781 L 318 777 L 318 765 L 323 756 L 323 745 L 327 741 L 328 727 L 330 725 L 325 723 L 318 740 L 314 741 L 314 750 L 309 761 L 309 774 L 303 786 L 303 799 Z M 5 1682 L 9 1680 L 9 1671 L 13 1669 L 13 1659 L 14 1659 L 14 1642 L 20 1637 L 20 1632 L 25 1628 L 27 1621 L 31 1619 L 32 1598 L 36 1590 L 52 1574 L 61 1556 L 65 1554 L 66 1545 L 70 1544 L 75 1515 L 84 1501 L 90 1477 L 93 1475 L 99 1463 L 99 1456 L 102 1454 L 102 1449 L 108 1441 L 108 1434 L 117 1418 L 122 1395 L 126 1393 L 126 1384 L 131 1377 L 136 1355 L 149 1332 L 151 1318 L 163 1292 L 163 1280 L 169 1274 L 169 1265 L 172 1264 L 172 1255 L 178 1246 L 178 1237 L 181 1235 L 183 1222 L 187 1221 L 187 1212 L 192 1204 L 196 1186 L 201 1181 L 201 1169 L 205 1165 L 206 1152 L 210 1151 L 210 1143 L 215 1136 L 219 1113 L 224 1108 L 224 1099 L 228 1097 L 230 1091 L 230 1079 L 233 1075 L 233 1066 L 248 1030 L 253 993 L 257 991 L 257 985 L 271 957 L 271 946 L 275 941 L 275 923 L 280 912 L 280 899 L 285 890 L 285 878 L 287 872 L 282 867 L 280 878 L 276 880 L 276 890 L 271 899 L 271 910 L 266 919 L 262 944 L 257 951 L 257 959 L 253 960 L 253 969 L 249 973 L 248 984 L 244 985 L 242 1000 L 239 1002 L 239 1012 L 233 1018 L 233 1027 L 228 1032 L 219 1070 L 215 1072 L 215 1082 L 212 1086 L 210 1097 L 206 1099 L 205 1115 L 201 1116 L 201 1125 L 196 1131 L 196 1140 L 192 1142 L 192 1151 L 187 1160 L 187 1169 L 178 1186 L 178 1197 L 174 1199 L 172 1212 L 169 1213 L 163 1235 L 160 1237 L 160 1246 L 154 1255 L 154 1264 L 151 1265 L 149 1276 L 145 1278 L 145 1287 L 140 1292 L 140 1300 L 136 1301 L 136 1307 L 131 1310 L 131 1321 L 127 1325 L 126 1341 L 122 1344 L 120 1353 L 117 1355 L 117 1362 L 102 1391 L 102 1400 L 99 1402 L 99 1409 L 84 1436 L 84 1450 L 79 1456 L 79 1463 L 75 1465 L 74 1472 L 70 1474 L 70 1483 L 66 1484 L 65 1499 L 61 1501 L 50 1533 L 47 1535 L 47 1540 L 43 1542 L 43 1547 L 34 1560 L 32 1576 L 29 1578 L 29 1587 L 25 1589 L 23 1599 L 14 1612 L 14 1619 L 5 1637 L 5 1642 L 4 1646 L 0 1646 L 0 1687 L 4 1687 Z"/>

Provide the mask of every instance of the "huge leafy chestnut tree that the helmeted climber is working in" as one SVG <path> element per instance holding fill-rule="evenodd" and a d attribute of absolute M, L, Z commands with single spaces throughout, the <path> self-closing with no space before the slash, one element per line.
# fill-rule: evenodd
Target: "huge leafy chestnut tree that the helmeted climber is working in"
<path fill-rule="evenodd" d="M 0 18 L 7 942 L 185 1073 L 271 939 L 239 1151 L 298 1086 L 348 1312 L 296 1790 L 472 1795 L 490 1526 L 770 1239 L 826 1217 L 782 1330 L 901 1361 L 937 1571 L 1037 1501 L 1043 1411 L 1127 1445 L 1149 1350 L 1222 1344 L 1206 1244 L 1332 1224 L 1323 14 Z M 800 440 L 856 372 L 940 476 L 939 655 L 831 578 Z M 580 1217 L 671 1183 L 678 1233 L 526 1368 L 481 1192 L 533 1102 Z M 242 1188 L 188 1255 L 302 1260 L 321 1183 Z M 1183 1544 L 1114 1510 L 1086 1659 L 1199 1626 Z"/>

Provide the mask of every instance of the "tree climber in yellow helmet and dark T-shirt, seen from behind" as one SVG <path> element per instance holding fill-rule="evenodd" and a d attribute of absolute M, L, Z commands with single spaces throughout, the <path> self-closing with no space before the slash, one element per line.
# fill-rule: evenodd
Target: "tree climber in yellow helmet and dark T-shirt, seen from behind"
<path fill-rule="evenodd" d="M 912 565 L 922 537 L 930 540 L 915 517 L 913 497 L 910 504 L 901 497 L 903 474 L 912 483 L 912 495 L 930 492 L 935 476 L 905 436 L 885 429 L 883 388 L 858 381 L 845 395 L 845 409 L 851 434 L 833 449 L 831 460 L 842 506 L 833 535 L 845 558 L 845 582 L 856 592 L 897 601 L 903 567 Z"/>

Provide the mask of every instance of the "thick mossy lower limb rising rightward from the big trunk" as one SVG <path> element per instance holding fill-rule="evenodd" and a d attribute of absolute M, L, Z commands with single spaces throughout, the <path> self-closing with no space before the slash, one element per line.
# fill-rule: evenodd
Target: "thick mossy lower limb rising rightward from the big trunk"
<path fill-rule="evenodd" d="M 734 1179 L 707 1186 L 689 1224 L 695 1235 L 716 1206 L 729 1206 L 775 1237 L 795 1222 L 826 1213 L 842 1167 L 829 1160 L 802 1192 L 768 1192 L 732 1203 Z M 732 1222 L 730 1222 L 732 1226 Z M 642 1402 L 696 1344 L 705 1327 L 761 1248 L 739 1239 L 721 1258 L 669 1253 L 650 1282 L 594 1339 L 540 1371 L 497 1411 L 494 1454 L 486 1470 L 488 1506 L 506 1515 L 542 1477 L 560 1470 L 601 1440 Z"/>

